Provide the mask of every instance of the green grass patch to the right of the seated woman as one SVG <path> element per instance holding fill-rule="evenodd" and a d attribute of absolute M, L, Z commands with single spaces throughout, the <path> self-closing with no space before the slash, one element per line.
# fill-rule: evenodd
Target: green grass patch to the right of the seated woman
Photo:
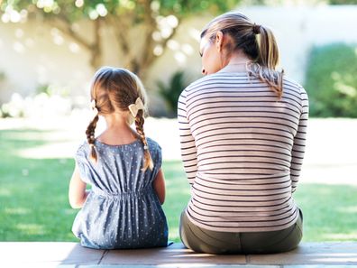
<path fill-rule="evenodd" d="M 357 187 L 299 185 L 295 199 L 304 213 L 304 241 L 357 241 Z"/>

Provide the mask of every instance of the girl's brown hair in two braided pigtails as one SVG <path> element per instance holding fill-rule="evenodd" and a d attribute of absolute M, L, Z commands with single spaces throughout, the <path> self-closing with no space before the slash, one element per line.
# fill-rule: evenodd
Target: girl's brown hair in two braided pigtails
<path fill-rule="evenodd" d="M 109 115 L 115 111 L 128 111 L 131 116 L 129 106 L 135 104 L 138 97 L 142 99 L 144 106 L 135 116 L 136 132 L 140 135 L 144 148 L 144 163 L 142 170 L 148 167 L 152 169 L 153 162 L 149 151 L 149 145 L 146 140 L 143 124 L 144 116 L 147 114 L 146 93 L 142 86 L 142 81 L 133 72 L 127 69 L 102 67 L 96 71 L 90 90 L 94 109 L 97 111 L 96 116 L 87 126 L 87 142 L 91 146 L 90 158 L 96 162 L 97 152 L 95 146 L 95 129 L 99 119 L 98 115 Z M 131 122 L 128 117 L 127 121 Z"/>

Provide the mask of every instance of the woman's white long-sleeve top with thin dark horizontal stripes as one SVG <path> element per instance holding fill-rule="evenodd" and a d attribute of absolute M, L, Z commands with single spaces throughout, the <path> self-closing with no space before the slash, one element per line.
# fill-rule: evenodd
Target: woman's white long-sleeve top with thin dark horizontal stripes
<path fill-rule="evenodd" d="M 247 73 L 198 79 L 178 99 L 181 155 L 191 185 L 186 213 L 225 232 L 287 228 L 304 158 L 308 99 L 284 78 L 283 95 Z"/>

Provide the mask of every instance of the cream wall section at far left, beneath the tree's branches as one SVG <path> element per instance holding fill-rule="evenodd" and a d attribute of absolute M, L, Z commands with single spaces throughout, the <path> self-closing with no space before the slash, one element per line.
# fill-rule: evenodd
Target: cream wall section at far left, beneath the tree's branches
<path fill-rule="evenodd" d="M 91 74 L 87 52 L 41 23 L 0 23 L 0 51 L 0 71 L 6 76 L 2 99 L 14 91 L 31 94 L 41 84 L 80 92 Z"/>

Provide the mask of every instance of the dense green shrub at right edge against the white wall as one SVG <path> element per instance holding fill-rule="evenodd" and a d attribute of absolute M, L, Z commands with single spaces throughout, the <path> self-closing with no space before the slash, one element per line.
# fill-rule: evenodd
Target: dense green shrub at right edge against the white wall
<path fill-rule="evenodd" d="M 310 116 L 357 117 L 357 45 L 314 47 L 307 63 L 305 88 Z"/>

